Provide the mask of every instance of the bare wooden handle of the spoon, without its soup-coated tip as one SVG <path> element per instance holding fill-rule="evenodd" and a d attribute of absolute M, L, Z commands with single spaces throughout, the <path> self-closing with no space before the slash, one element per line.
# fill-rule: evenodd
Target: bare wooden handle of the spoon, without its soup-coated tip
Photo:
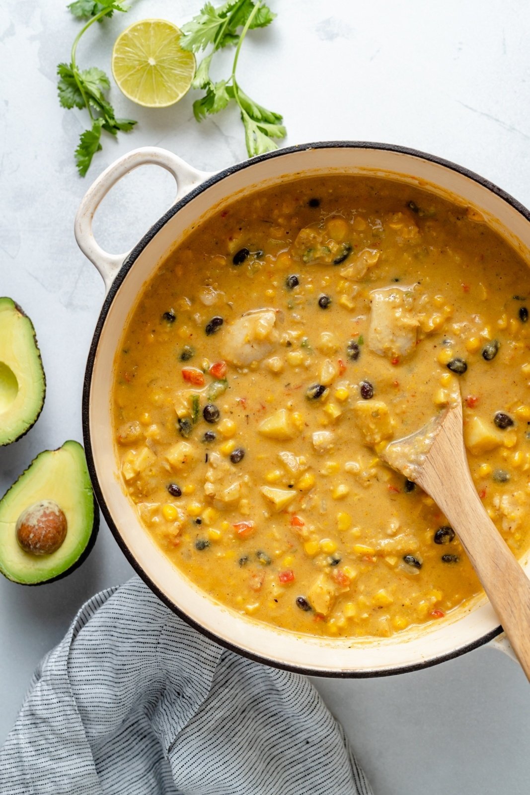
<path fill-rule="evenodd" d="M 443 448 L 445 440 L 438 441 Z M 458 455 L 460 446 L 462 455 Z M 427 462 L 418 483 L 458 533 L 530 681 L 530 580 L 482 505 L 471 479 L 462 441 L 455 445 L 453 440 L 451 447 L 452 456 L 446 457 L 445 468 Z M 431 452 L 436 458 L 437 452 L 445 455 L 447 451 Z M 448 460 L 451 460 L 451 467 L 447 467 Z"/>

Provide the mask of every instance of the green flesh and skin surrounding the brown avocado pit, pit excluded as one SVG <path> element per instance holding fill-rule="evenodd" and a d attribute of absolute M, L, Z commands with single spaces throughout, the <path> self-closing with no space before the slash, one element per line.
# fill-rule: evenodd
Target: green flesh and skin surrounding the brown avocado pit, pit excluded
<path fill-rule="evenodd" d="M 16 525 L 23 510 L 43 499 L 60 506 L 68 529 L 56 552 L 37 556 L 21 549 Z M 84 560 L 98 524 L 99 511 L 81 445 L 68 441 L 58 450 L 44 450 L 0 500 L 0 572 L 24 585 L 55 580 Z"/>

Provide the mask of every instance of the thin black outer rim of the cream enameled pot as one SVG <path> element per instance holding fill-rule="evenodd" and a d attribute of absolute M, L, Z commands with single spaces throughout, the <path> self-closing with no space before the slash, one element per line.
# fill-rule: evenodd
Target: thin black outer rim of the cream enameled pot
<path fill-rule="evenodd" d="M 249 160 L 242 161 L 236 165 L 231 165 L 226 169 L 222 169 L 212 176 L 208 177 L 207 180 L 201 182 L 195 188 L 186 194 L 182 199 L 178 200 L 176 204 L 173 204 L 172 207 L 168 209 L 161 216 L 161 218 L 153 224 L 153 226 L 145 233 L 145 235 L 141 238 L 137 245 L 134 246 L 133 250 L 130 254 L 127 255 L 125 261 L 122 264 L 122 267 L 118 271 L 118 274 L 114 278 L 112 285 L 110 285 L 109 292 L 105 297 L 105 301 L 103 302 L 103 307 L 99 314 L 99 319 L 95 327 L 94 336 L 92 338 L 90 351 L 88 353 L 87 358 L 87 367 L 85 370 L 84 382 L 83 382 L 83 408 L 82 408 L 82 420 L 83 420 L 83 440 L 85 445 L 85 452 L 87 455 L 87 465 L 88 471 L 91 476 L 92 486 L 95 491 L 96 498 L 99 502 L 99 507 L 103 512 L 103 516 L 106 519 L 106 523 L 110 528 L 110 532 L 113 534 L 115 540 L 118 542 L 118 546 L 122 549 L 122 553 L 126 556 L 126 559 L 129 561 L 130 565 L 134 569 L 135 572 L 144 580 L 145 584 L 149 586 L 149 588 L 157 595 L 159 599 L 167 606 L 169 609 L 179 615 L 181 619 L 184 619 L 190 626 L 192 626 L 195 630 L 198 630 L 201 634 L 206 635 L 207 638 L 210 638 L 215 643 L 218 643 L 220 646 L 224 648 L 234 651 L 235 653 L 241 654 L 244 657 L 247 657 L 250 660 L 259 662 L 264 665 L 270 665 L 273 668 L 284 669 L 293 671 L 295 673 L 305 674 L 307 676 L 314 676 L 314 677 L 333 677 L 333 678 L 354 678 L 354 679 L 367 679 L 371 677 L 387 677 L 387 676 L 394 676 L 400 673 L 412 673 L 413 671 L 418 671 L 424 668 L 430 668 L 432 665 L 439 665 L 442 662 L 447 660 L 455 659 L 456 657 L 460 657 L 462 654 L 467 652 L 473 651 L 474 649 L 478 649 L 480 646 L 484 646 L 489 641 L 496 638 L 497 635 L 501 634 L 502 626 L 497 626 L 493 630 L 490 630 L 488 633 L 482 635 L 480 638 L 477 638 L 473 642 L 466 643 L 464 646 L 458 646 L 458 648 L 452 650 L 451 652 L 447 652 L 445 654 L 440 654 L 437 657 L 430 657 L 427 660 L 418 661 L 416 663 L 412 663 L 411 665 L 397 665 L 393 666 L 392 668 L 387 669 L 363 669 L 363 670 L 348 670 L 348 671 L 336 671 L 336 670 L 326 670 L 326 669 L 308 669 L 304 668 L 303 665 L 288 665 L 285 663 L 281 663 L 280 661 L 269 659 L 269 657 L 265 657 L 259 654 L 251 653 L 246 649 L 242 649 L 239 646 L 230 643 L 225 638 L 220 637 L 219 635 L 206 630 L 202 625 L 198 622 L 195 622 L 194 619 L 191 619 L 180 607 L 177 607 L 176 604 L 172 603 L 171 599 L 168 599 L 166 595 L 157 587 L 157 584 L 150 579 L 150 577 L 146 574 L 144 569 L 141 567 L 141 564 L 134 558 L 133 554 L 130 552 L 130 549 L 126 546 L 125 542 L 122 539 L 122 536 L 118 530 L 118 527 L 114 524 L 114 520 L 110 514 L 110 510 L 106 505 L 105 499 L 103 498 L 103 492 L 99 486 L 99 479 L 95 468 L 95 461 L 92 452 L 91 446 L 91 436 L 90 436 L 90 422 L 89 422 L 89 405 L 90 405 L 90 391 L 91 391 L 91 380 L 92 380 L 92 372 L 94 370 L 94 363 L 95 363 L 95 354 L 99 345 L 99 339 L 103 332 L 103 326 L 105 324 L 106 316 L 109 312 L 110 305 L 114 301 L 114 297 L 118 293 L 118 289 L 120 285 L 122 285 L 122 281 L 124 281 L 127 273 L 129 273 L 130 269 L 133 267 L 134 262 L 136 262 L 137 258 L 140 256 L 141 252 L 145 249 L 145 246 L 153 240 L 155 235 L 161 228 L 164 227 L 169 220 L 172 219 L 173 215 L 184 207 L 188 202 L 195 199 L 196 196 L 199 196 L 200 193 L 210 188 L 211 185 L 220 182 L 226 176 L 230 176 L 230 174 L 237 173 L 238 171 L 242 171 L 242 169 L 247 169 L 252 167 L 253 165 L 260 163 L 265 160 L 272 159 L 273 157 L 283 157 L 286 154 L 293 154 L 293 153 L 300 153 L 300 152 L 307 152 L 311 149 L 375 149 L 375 150 L 383 150 L 389 152 L 396 152 L 399 154 L 406 154 L 411 157 L 416 157 L 421 160 L 430 161 L 431 163 L 436 163 L 437 165 L 442 165 L 446 169 L 450 169 L 451 171 L 455 171 L 462 176 L 468 177 L 470 180 L 477 182 L 478 184 L 482 185 L 483 188 L 486 188 L 490 192 L 494 193 L 496 196 L 499 196 L 502 200 L 504 200 L 507 204 L 513 207 L 517 212 L 520 213 L 528 222 L 530 222 L 530 211 L 523 204 L 520 204 L 513 196 L 510 196 L 509 193 L 505 192 L 501 188 L 499 188 L 493 182 L 486 180 L 484 177 L 480 176 L 470 169 L 466 169 L 461 165 L 457 165 L 448 160 L 444 160 L 442 157 L 436 157 L 435 155 L 428 154 L 425 152 L 421 152 L 418 149 L 410 149 L 406 146 L 394 145 L 394 144 L 386 144 L 386 143 L 376 143 L 376 142 L 366 142 L 366 141 L 320 141 L 314 143 L 307 143 L 303 145 L 296 145 L 296 146 L 288 146 L 284 149 L 276 149 L 273 152 L 267 152 L 265 154 L 258 155 L 257 157 L 252 157 Z"/>

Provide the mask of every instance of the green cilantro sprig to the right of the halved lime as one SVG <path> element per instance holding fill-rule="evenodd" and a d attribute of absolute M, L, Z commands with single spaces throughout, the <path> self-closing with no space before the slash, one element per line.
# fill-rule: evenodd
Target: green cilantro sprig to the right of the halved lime
<path fill-rule="evenodd" d="M 184 25 L 184 36 L 180 40 L 180 46 L 191 52 L 211 48 L 211 52 L 201 60 L 191 83 L 193 88 L 205 91 L 203 97 L 193 103 L 195 118 L 200 122 L 207 114 L 219 113 L 230 102 L 235 102 L 245 128 L 246 150 L 250 157 L 277 149 L 274 139 L 285 138 L 287 134 L 281 123 L 283 117 L 250 99 L 236 78 L 239 52 L 246 33 L 265 28 L 275 17 L 276 14 L 261 0 L 228 0 L 217 8 L 207 2 L 200 13 Z M 241 33 L 238 33 L 239 28 L 242 28 Z M 230 77 L 214 83 L 210 76 L 211 60 L 219 49 L 233 45 L 236 50 Z"/>

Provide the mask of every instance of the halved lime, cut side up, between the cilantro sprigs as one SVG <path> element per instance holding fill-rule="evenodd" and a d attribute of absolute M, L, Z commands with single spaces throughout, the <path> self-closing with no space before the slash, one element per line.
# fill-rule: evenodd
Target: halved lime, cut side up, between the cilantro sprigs
<path fill-rule="evenodd" d="M 112 74 L 123 94 L 144 107 L 181 99 L 195 75 L 195 56 L 180 47 L 182 33 L 164 19 L 133 22 L 112 50 Z"/>

